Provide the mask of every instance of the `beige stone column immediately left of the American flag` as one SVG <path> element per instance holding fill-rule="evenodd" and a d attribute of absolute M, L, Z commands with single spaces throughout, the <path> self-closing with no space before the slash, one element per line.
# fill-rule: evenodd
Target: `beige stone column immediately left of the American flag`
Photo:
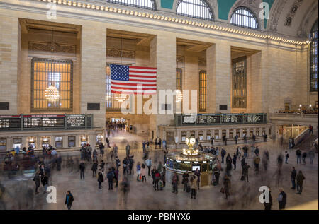
<path fill-rule="evenodd" d="M 105 127 L 106 25 L 86 21 L 81 42 L 81 113 L 94 114 L 94 126 Z M 87 110 L 87 103 L 99 103 L 100 110 Z"/>

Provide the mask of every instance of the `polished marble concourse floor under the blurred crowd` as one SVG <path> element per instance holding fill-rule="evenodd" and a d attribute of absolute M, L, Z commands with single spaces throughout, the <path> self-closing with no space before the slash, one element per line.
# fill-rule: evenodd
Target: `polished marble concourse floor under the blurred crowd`
<path fill-rule="evenodd" d="M 111 143 L 117 143 L 119 148 L 119 158 L 121 161 L 125 156 L 124 141 L 128 140 L 140 142 L 140 138 L 136 138 L 131 134 L 119 133 L 111 138 Z M 132 143 L 133 144 L 133 143 Z M 138 148 L 132 151 L 135 164 L 142 162 L 142 148 L 140 143 L 135 143 Z M 240 162 L 237 162 L 237 170 L 232 170 L 231 177 L 231 196 L 225 199 L 225 196 L 220 193 L 221 184 L 213 187 L 201 187 L 197 191 L 196 199 L 191 199 L 190 193 L 186 193 L 183 189 L 179 189 L 178 194 L 172 194 L 172 185 L 167 180 L 167 186 L 163 191 L 154 191 L 152 188 L 152 178 L 147 177 L 147 182 L 137 182 L 136 175 L 128 176 L 130 180 L 130 191 L 128 193 L 128 203 L 122 202 L 122 193 L 120 189 L 113 189 L 108 191 L 108 183 L 103 182 L 103 188 L 98 188 L 96 177 L 92 177 L 91 163 L 86 162 L 85 179 L 81 180 L 78 165 L 74 163 L 73 171 L 65 167 L 65 160 L 67 156 L 79 158 L 79 152 L 64 152 L 61 153 L 64 162 L 62 163 L 62 171 L 57 172 L 52 170 L 49 184 L 55 186 L 57 189 L 57 203 L 48 204 L 46 194 L 34 195 L 35 184 L 32 179 L 13 180 L 7 179 L 4 173 L 0 173 L 0 183 L 5 187 L 5 192 L 0 199 L 0 209 L 47 209 L 47 210 L 61 210 L 67 209 L 65 206 L 65 194 L 70 190 L 74 196 L 74 203 L 72 209 L 241 209 L 250 210 L 264 209 L 263 204 L 259 203 L 259 187 L 267 185 L 272 188 L 273 207 L 278 209 L 278 202 L 276 198 L 279 195 L 279 187 L 283 187 L 287 194 L 286 208 L 293 208 L 294 206 L 302 206 L 304 204 L 318 201 L 318 155 L 315 155 L 315 162 L 313 165 L 309 164 L 307 158 L 306 165 L 296 164 L 296 155 L 294 151 L 289 152 L 289 164 L 284 164 L 282 168 L 282 175 L 278 178 L 276 176 L 276 158 L 280 152 L 284 153 L 284 149 L 280 149 L 278 144 L 273 142 L 257 143 L 261 154 L 265 149 L 270 152 L 269 169 L 267 172 L 260 172 L 259 175 L 254 174 L 253 168 L 250 169 L 250 182 L 245 183 L 240 181 L 242 168 Z M 233 155 L 236 146 L 223 146 L 227 153 Z M 220 148 L 220 147 L 218 147 Z M 103 160 L 107 160 L 104 155 Z M 150 152 L 153 165 L 157 165 L 159 160 L 164 160 L 162 151 L 155 151 L 154 147 Z M 101 160 L 101 158 L 99 158 Z M 252 165 L 252 158 L 247 159 L 247 163 Z M 108 164 L 111 165 L 111 164 Z M 291 167 L 295 166 L 296 170 L 302 170 L 306 177 L 303 184 L 303 193 L 296 194 L 296 190 L 291 189 Z M 225 167 L 225 165 L 223 165 Z M 224 169 L 225 170 L 225 169 Z M 120 181 L 122 179 L 122 170 L 120 168 Z M 223 175 L 221 176 L 223 177 Z M 221 181 L 220 181 L 221 182 Z M 43 187 L 39 189 L 43 192 Z M 318 203 L 316 203 L 318 209 Z M 4 207 L 5 206 L 5 207 Z M 303 208 L 313 208 L 303 206 Z"/>

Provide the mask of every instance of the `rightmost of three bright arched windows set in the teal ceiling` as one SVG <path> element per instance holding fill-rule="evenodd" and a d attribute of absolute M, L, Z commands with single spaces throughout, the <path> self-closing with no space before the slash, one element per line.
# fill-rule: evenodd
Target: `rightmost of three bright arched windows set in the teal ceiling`
<path fill-rule="evenodd" d="M 245 7 L 239 7 L 233 11 L 232 17 L 230 18 L 230 25 L 259 30 L 256 16 L 254 16 L 252 11 Z"/>

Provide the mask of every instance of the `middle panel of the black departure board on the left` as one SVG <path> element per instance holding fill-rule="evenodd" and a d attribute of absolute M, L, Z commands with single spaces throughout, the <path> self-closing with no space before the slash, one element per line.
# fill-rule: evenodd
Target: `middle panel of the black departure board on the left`
<path fill-rule="evenodd" d="M 26 115 L 23 116 L 23 129 L 63 128 L 64 115 Z"/>

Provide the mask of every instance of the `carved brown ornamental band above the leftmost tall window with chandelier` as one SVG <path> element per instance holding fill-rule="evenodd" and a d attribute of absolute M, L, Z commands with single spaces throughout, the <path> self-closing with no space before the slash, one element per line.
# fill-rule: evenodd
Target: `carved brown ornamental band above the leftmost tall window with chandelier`
<path fill-rule="evenodd" d="M 51 44 L 50 42 L 29 42 L 29 51 L 76 54 L 76 45 Z"/>

